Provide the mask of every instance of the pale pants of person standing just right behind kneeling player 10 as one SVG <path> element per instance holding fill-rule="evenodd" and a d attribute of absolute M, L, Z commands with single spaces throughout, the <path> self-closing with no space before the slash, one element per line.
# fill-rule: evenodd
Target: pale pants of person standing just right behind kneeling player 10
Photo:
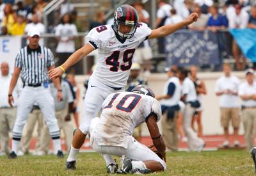
<path fill-rule="evenodd" d="M 197 134 L 191 128 L 192 117 L 195 114 L 196 108 L 191 107 L 191 104 L 187 103 L 184 109 L 183 127 L 188 138 L 189 150 L 195 151 L 198 147 L 204 144 L 201 138 L 198 138 Z"/>

